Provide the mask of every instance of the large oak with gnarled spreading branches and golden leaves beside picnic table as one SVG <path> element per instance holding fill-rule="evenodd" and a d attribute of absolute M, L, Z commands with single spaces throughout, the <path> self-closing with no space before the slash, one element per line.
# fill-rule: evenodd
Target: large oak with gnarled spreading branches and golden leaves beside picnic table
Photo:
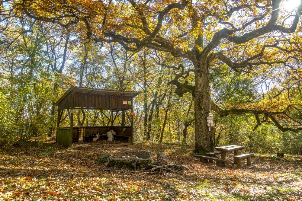
<path fill-rule="evenodd" d="M 218 106 L 210 97 L 211 65 L 224 63 L 244 75 L 278 65 L 301 78 L 297 66 L 301 58 L 302 2 L 291 11 L 282 7 L 286 3 L 281 0 L 7 0 L 2 1 L 1 20 L 8 22 L 16 17 L 26 18 L 29 23 L 56 23 L 86 42 L 119 43 L 133 53 L 147 47 L 192 62 L 193 68 L 170 66 L 176 74 L 171 83 L 177 86 L 178 95 L 189 92 L 193 96 L 195 151 L 205 152 L 213 149 L 207 127 L 210 110 L 220 116 L 253 113 L 257 125 L 271 123 L 281 131 L 302 129 L 300 121 L 291 116 L 294 110 L 301 114 L 299 102 L 278 107 L 280 103 L 273 97 L 267 104 L 274 103 L 273 107 L 259 107 L 254 103 L 227 108 Z M 185 81 L 190 74 L 194 74 L 193 83 Z"/>

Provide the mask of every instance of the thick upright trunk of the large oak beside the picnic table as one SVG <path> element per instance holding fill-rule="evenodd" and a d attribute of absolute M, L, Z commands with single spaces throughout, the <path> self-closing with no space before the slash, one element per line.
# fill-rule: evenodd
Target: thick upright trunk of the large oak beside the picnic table
<path fill-rule="evenodd" d="M 213 139 L 207 126 L 207 116 L 211 108 L 209 71 L 206 62 L 195 64 L 195 151 L 203 155 L 213 151 Z"/>

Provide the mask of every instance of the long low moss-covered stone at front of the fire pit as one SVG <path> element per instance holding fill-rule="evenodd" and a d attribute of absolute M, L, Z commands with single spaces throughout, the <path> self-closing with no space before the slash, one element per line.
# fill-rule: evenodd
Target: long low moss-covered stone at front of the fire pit
<path fill-rule="evenodd" d="M 135 163 L 134 158 L 111 158 L 107 163 L 107 167 L 117 167 L 117 168 L 127 168 L 134 169 L 133 163 Z M 136 159 L 136 168 L 141 169 L 147 167 L 148 164 L 151 164 L 151 159 L 139 158 Z"/>

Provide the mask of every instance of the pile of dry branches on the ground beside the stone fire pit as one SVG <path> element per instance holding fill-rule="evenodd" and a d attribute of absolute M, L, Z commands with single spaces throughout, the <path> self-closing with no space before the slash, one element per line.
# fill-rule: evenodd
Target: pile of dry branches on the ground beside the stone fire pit
<path fill-rule="evenodd" d="M 132 171 L 133 173 L 139 174 L 156 174 L 162 172 L 170 172 L 175 174 L 182 174 L 185 170 L 189 168 L 176 164 L 175 161 L 162 160 L 152 164 L 149 164 L 146 168 L 143 169 L 143 172 Z"/>

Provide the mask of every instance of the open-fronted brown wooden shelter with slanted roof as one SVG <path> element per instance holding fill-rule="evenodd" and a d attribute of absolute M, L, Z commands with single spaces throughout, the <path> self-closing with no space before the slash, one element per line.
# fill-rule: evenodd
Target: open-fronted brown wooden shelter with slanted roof
<path fill-rule="evenodd" d="M 70 147 L 72 141 L 89 141 L 89 136 L 99 133 L 100 139 L 106 139 L 106 132 L 114 130 L 114 139 L 133 143 L 133 98 L 140 94 L 138 91 L 109 91 L 94 88 L 71 87 L 56 102 L 58 110 L 56 142 Z M 109 120 L 109 126 L 73 126 L 73 113 L 76 109 L 101 110 Z M 67 115 L 62 118 L 64 110 Z M 103 110 L 111 110 L 106 115 Z M 131 113 L 128 113 L 128 111 Z M 115 126 L 114 121 L 120 111 L 125 111 L 131 126 Z M 70 119 L 69 127 L 60 127 L 60 123 L 67 117 Z"/>

